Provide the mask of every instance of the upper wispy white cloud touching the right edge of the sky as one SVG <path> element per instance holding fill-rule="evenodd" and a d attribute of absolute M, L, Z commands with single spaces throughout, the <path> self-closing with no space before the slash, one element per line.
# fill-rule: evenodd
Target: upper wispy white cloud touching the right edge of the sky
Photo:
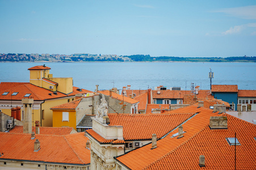
<path fill-rule="evenodd" d="M 243 19 L 256 19 L 256 5 L 224 8 L 213 12 L 223 12 Z"/>

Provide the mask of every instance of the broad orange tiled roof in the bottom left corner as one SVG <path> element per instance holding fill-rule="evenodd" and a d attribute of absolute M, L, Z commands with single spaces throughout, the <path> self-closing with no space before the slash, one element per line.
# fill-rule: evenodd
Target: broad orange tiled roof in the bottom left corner
<path fill-rule="evenodd" d="M 45 135 L 0 132 L 0 159 L 35 162 L 90 164 L 90 150 L 85 148 L 89 140 L 84 133 L 69 135 Z M 39 139 L 40 150 L 34 152 L 34 142 Z"/>

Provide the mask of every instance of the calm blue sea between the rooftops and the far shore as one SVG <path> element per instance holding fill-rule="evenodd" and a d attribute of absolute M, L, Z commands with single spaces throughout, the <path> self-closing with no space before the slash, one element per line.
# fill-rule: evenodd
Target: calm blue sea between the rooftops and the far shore
<path fill-rule="evenodd" d="M 146 89 L 160 85 L 191 90 L 191 83 L 209 90 L 209 68 L 212 84 L 237 84 L 240 90 L 256 90 L 256 63 L 0 63 L 0 82 L 29 82 L 27 69 L 45 64 L 53 77 L 73 77 L 74 86 L 94 91 L 112 87 Z"/>

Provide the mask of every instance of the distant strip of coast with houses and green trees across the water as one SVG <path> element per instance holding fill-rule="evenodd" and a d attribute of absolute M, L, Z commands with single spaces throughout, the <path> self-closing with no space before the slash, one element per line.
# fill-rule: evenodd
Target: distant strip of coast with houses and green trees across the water
<path fill-rule="evenodd" d="M 15 54 L 0 53 L 0 62 L 256 62 L 256 57 L 152 57 L 136 54 L 118 56 L 115 54 Z"/>

